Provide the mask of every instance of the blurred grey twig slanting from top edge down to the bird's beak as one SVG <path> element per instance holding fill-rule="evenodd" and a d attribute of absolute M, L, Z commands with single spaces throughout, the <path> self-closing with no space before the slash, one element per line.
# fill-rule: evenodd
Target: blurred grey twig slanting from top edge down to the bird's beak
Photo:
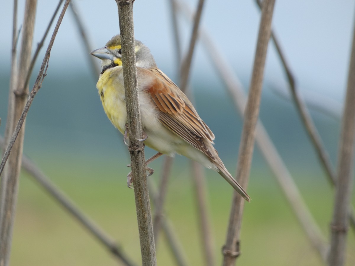
<path fill-rule="evenodd" d="M 75 1 L 71 0 L 69 7 L 70 7 L 70 9 L 71 9 L 71 11 L 73 13 L 76 26 L 78 27 L 81 39 L 82 39 L 83 44 L 85 46 L 85 50 L 86 50 L 87 55 L 88 55 L 86 57 L 89 60 L 89 65 L 91 66 L 91 71 L 93 72 L 94 77 L 96 77 L 101 72 L 101 70 L 100 70 L 98 64 L 95 62 L 94 57 L 89 54 L 93 49 L 92 49 L 92 47 L 90 45 L 91 42 L 89 41 L 89 37 L 88 37 L 87 31 L 86 31 L 86 29 L 84 27 L 84 23 L 81 20 L 80 15 L 79 15 L 79 12 L 77 10 Z"/>

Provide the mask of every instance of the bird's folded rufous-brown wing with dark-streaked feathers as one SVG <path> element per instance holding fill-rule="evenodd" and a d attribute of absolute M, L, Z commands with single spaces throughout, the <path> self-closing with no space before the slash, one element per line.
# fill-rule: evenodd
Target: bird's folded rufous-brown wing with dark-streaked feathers
<path fill-rule="evenodd" d="M 137 72 L 140 72 L 140 76 L 154 77 L 145 90 L 162 111 L 162 124 L 213 160 L 213 151 L 208 149 L 209 145 L 205 141 L 213 143 L 214 135 L 198 116 L 186 95 L 157 68 L 148 70 L 138 67 Z"/>

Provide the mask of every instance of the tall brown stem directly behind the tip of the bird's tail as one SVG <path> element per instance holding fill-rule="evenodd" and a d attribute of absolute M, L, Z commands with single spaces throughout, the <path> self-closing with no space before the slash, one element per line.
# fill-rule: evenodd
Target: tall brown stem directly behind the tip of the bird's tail
<path fill-rule="evenodd" d="M 255 140 L 254 132 L 260 108 L 263 72 L 271 34 L 274 4 L 275 0 L 265 0 L 263 2 L 249 97 L 245 109 L 236 174 L 236 180 L 244 189 L 247 187 L 250 173 Z M 223 247 L 223 265 L 225 266 L 234 265 L 236 257 L 239 255 L 239 235 L 243 209 L 244 199 L 238 193 L 234 192 L 228 233 L 225 246 Z"/>

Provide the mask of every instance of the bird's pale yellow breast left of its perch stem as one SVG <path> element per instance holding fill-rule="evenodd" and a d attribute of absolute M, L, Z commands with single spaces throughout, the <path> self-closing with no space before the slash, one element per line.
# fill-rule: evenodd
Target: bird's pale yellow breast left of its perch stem
<path fill-rule="evenodd" d="M 123 134 L 127 123 L 127 110 L 122 67 L 110 68 L 102 73 L 96 87 L 107 117 Z"/>

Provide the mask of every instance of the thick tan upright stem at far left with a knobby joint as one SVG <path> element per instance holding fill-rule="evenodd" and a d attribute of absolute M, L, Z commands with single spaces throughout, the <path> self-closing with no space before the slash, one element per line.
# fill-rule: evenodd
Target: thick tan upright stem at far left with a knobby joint
<path fill-rule="evenodd" d="M 17 3 L 16 3 L 17 6 Z M 14 5 L 15 7 L 15 5 Z M 18 76 L 11 77 L 10 80 L 13 82 L 17 79 L 16 84 L 12 83 L 12 88 L 10 88 L 9 100 L 9 110 L 8 110 L 8 123 L 6 125 L 5 136 L 6 143 L 11 143 L 10 135 L 15 130 L 15 125 L 24 105 L 26 104 L 26 96 L 28 95 L 28 87 L 25 87 L 25 78 L 29 63 L 31 60 L 31 50 L 33 42 L 33 31 L 34 31 L 34 18 L 37 8 L 37 0 L 27 0 L 25 4 L 25 12 L 23 18 L 23 31 L 22 31 L 22 41 L 20 49 L 20 62 L 18 64 Z M 15 10 L 14 10 L 15 12 Z M 15 33 L 13 28 L 13 34 Z M 16 35 L 15 35 L 16 36 Z M 12 40 L 16 40 L 13 36 Z M 16 44 L 12 44 L 12 49 L 15 49 Z M 14 52 L 14 51 L 12 51 Z M 13 67 L 16 66 L 16 59 L 13 58 Z M 16 71 L 12 72 L 11 75 L 17 74 Z M 15 219 L 17 192 L 18 192 L 18 179 L 21 169 L 21 156 L 23 150 L 23 138 L 24 138 L 24 127 L 18 133 L 18 141 L 13 144 L 13 152 L 9 158 L 9 162 L 6 165 L 4 174 L 1 176 L 1 188 L 0 188 L 0 265 L 9 265 L 10 253 L 11 253 L 11 243 L 12 243 L 12 231 L 13 222 Z M 6 153 L 5 153 L 6 154 Z M 7 155 L 9 157 L 9 154 Z M 6 158 L 7 159 L 7 158 Z M 0 175 L 2 169 L 5 166 L 2 164 Z"/>

